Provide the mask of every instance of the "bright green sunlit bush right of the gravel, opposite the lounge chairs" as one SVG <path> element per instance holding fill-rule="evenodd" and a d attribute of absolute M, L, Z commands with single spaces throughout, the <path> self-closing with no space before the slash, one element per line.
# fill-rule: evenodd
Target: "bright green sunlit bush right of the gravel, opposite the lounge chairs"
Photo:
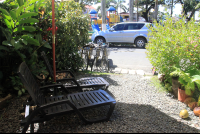
<path fill-rule="evenodd" d="M 187 72 L 200 69 L 200 26 L 194 21 L 185 24 L 184 19 L 173 21 L 168 18 L 150 27 L 147 57 L 167 81 L 175 69 Z"/>

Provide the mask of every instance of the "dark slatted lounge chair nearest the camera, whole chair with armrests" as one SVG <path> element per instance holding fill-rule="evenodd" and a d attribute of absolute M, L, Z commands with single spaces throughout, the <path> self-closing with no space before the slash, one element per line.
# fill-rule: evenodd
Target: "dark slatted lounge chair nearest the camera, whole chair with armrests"
<path fill-rule="evenodd" d="M 36 108 L 20 122 L 20 124 L 24 126 L 22 133 L 27 131 L 30 124 L 49 121 L 54 116 L 66 114 L 67 112 L 76 112 L 85 123 L 108 121 L 113 113 L 116 101 L 105 90 L 99 89 L 45 97 L 25 62 L 20 64 L 18 75 L 31 96 L 29 102 L 24 103 L 24 105 L 36 106 Z M 59 84 L 55 84 L 55 87 L 58 85 Z M 95 107 L 101 109 L 100 106 L 105 105 L 109 105 L 107 116 L 101 117 L 100 119 L 88 120 L 80 112 L 83 109 Z"/>

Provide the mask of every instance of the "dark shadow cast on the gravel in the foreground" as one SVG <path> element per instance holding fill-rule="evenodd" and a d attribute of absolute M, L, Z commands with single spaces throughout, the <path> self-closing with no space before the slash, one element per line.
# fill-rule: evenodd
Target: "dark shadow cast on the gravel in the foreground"
<path fill-rule="evenodd" d="M 134 101 L 134 100 L 133 100 Z M 87 111 L 105 114 L 104 110 Z M 181 119 L 180 119 L 181 120 Z M 110 121 L 84 124 L 75 113 L 57 116 L 40 126 L 39 133 L 197 133 L 190 127 L 150 105 L 117 102 Z"/>

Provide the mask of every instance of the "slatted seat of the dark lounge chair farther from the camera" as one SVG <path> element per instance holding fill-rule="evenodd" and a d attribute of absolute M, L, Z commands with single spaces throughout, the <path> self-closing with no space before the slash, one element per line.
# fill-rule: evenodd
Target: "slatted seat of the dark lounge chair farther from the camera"
<path fill-rule="evenodd" d="M 85 77 L 85 78 L 81 78 L 79 80 L 77 80 L 77 82 L 80 84 L 80 86 L 82 88 L 89 88 L 91 86 L 95 87 L 95 86 L 106 86 L 106 88 L 109 86 L 109 83 L 104 80 L 102 77 Z M 67 87 L 77 87 L 76 84 L 72 84 L 72 83 L 65 83 L 64 86 Z"/>

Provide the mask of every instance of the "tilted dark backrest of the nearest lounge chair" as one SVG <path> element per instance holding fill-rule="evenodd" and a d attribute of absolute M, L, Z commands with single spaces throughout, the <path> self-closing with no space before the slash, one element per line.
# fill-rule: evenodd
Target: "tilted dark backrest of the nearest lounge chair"
<path fill-rule="evenodd" d="M 38 106 L 44 104 L 45 99 L 43 93 L 40 91 L 38 83 L 34 79 L 31 71 L 29 70 L 25 62 L 22 62 L 20 64 L 17 73 L 35 104 Z"/>

